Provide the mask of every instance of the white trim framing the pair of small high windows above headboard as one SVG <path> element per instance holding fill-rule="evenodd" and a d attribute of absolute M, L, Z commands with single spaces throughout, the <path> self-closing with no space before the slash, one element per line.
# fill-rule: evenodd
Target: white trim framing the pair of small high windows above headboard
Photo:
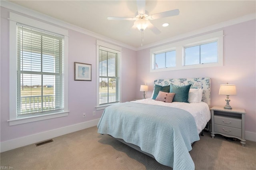
<path fill-rule="evenodd" d="M 212 42 L 214 40 L 218 41 L 218 62 L 217 63 L 184 65 L 184 47 Z M 171 49 L 176 50 L 176 67 L 154 69 L 154 54 L 170 51 Z M 195 69 L 195 68 L 205 68 L 205 67 L 218 67 L 218 66 L 223 66 L 223 30 L 150 49 L 150 72 Z"/>

